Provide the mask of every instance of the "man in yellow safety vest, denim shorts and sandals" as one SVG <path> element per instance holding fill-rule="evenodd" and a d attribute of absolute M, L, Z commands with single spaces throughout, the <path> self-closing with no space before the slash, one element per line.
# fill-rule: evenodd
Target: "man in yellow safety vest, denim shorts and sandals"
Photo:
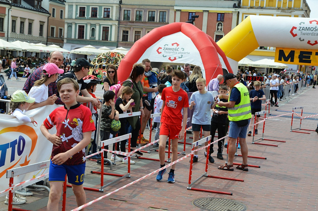
<path fill-rule="evenodd" d="M 237 166 L 237 169 L 248 171 L 247 154 L 248 148 L 246 145 L 246 133 L 250 124 L 251 104 L 250 97 L 246 86 L 240 83 L 233 73 L 228 73 L 224 77 L 226 85 L 231 88 L 229 95 L 218 95 L 219 99 L 227 99 L 228 102 L 220 101 L 219 106 L 228 108 L 228 118 L 230 120 L 229 138 L 228 138 L 228 161 L 224 166 L 219 166 L 218 169 L 233 171 L 233 159 L 236 151 L 236 140 L 239 138 L 241 145 L 241 153 L 243 162 Z"/>

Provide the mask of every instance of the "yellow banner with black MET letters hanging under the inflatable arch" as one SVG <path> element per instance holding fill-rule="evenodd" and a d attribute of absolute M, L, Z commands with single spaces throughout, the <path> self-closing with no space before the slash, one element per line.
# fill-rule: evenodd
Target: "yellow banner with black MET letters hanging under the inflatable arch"
<path fill-rule="evenodd" d="M 318 65 L 318 50 L 276 48 L 275 62 L 294 65 Z"/>

